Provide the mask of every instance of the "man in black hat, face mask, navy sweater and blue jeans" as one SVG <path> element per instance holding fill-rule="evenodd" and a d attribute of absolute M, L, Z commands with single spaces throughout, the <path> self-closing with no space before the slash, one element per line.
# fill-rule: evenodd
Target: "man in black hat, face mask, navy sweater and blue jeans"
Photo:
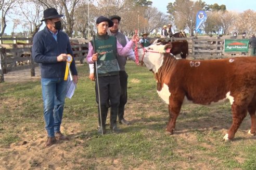
<path fill-rule="evenodd" d="M 45 129 L 48 134 L 45 147 L 55 144 L 56 138 L 68 140 L 60 132 L 60 124 L 67 94 L 67 81 L 64 77 L 68 54 L 73 55 L 73 52 L 68 35 L 61 31 L 60 17 L 63 15 L 59 15 L 55 8 L 44 10 L 42 21 L 45 21 L 46 26 L 34 36 L 32 47 L 33 59 L 40 63 L 41 68 Z M 73 81 L 77 83 L 78 72 L 74 59 L 70 63 L 70 70 Z"/>

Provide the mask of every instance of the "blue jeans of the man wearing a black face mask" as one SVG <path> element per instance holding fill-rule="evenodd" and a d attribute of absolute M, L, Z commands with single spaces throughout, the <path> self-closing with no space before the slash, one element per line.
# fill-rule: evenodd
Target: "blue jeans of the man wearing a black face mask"
<path fill-rule="evenodd" d="M 63 107 L 67 94 L 67 81 L 63 78 L 42 78 L 45 129 L 48 137 L 60 132 Z"/>

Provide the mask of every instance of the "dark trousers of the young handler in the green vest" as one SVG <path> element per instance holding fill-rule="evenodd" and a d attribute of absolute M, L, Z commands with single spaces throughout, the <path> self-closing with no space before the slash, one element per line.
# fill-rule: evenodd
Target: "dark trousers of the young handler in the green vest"
<path fill-rule="evenodd" d="M 110 126 L 117 123 L 118 107 L 120 103 L 120 78 L 119 75 L 98 77 L 99 81 L 99 94 L 100 94 L 100 106 L 99 106 L 99 96 L 97 79 L 95 81 L 95 92 L 96 92 L 96 102 L 98 103 L 98 121 L 100 123 L 100 112 L 101 110 L 101 120 L 103 126 L 106 125 L 106 119 L 108 115 L 109 100 L 111 102 L 110 108 Z"/>

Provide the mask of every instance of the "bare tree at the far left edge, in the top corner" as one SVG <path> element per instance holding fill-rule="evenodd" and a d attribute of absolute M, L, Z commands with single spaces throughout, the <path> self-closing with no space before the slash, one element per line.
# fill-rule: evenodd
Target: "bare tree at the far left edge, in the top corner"
<path fill-rule="evenodd" d="M 1 12 L 1 30 L 0 36 L 2 36 L 5 32 L 6 24 L 6 16 L 14 9 L 17 5 L 17 0 L 1 0 L 0 1 L 0 12 Z"/>

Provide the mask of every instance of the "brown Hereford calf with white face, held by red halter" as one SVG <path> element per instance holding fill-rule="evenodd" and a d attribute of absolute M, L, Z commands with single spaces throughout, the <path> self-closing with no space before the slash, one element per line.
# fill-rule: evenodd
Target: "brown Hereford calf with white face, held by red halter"
<path fill-rule="evenodd" d="M 172 45 L 151 45 L 140 49 L 139 60 L 152 70 L 157 92 L 169 105 L 166 131 L 173 134 L 183 104 L 212 105 L 229 101 L 233 123 L 224 140 L 233 139 L 242 120 L 251 117 L 249 134 L 256 133 L 256 58 L 239 57 L 217 60 L 176 60 Z"/>

